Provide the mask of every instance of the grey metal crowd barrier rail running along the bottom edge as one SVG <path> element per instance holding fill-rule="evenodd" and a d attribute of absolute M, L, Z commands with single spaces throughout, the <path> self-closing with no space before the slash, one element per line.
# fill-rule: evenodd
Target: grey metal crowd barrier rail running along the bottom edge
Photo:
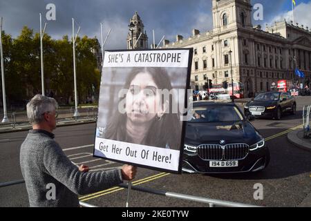
<path fill-rule="evenodd" d="M 5 182 L 5 183 L 0 183 L 0 188 L 4 186 L 12 186 L 15 184 L 23 184 L 25 180 L 16 180 L 16 181 L 11 181 L 11 182 Z M 117 186 L 120 186 L 122 188 L 128 189 L 129 184 L 119 184 Z M 189 200 L 193 202 L 201 202 L 205 204 L 209 204 L 209 207 L 214 207 L 214 206 L 223 206 L 223 207 L 261 207 L 261 206 L 254 206 L 250 204 L 242 204 L 242 203 L 237 203 L 237 202 L 229 202 L 229 201 L 224 201 L 224 200 L 214 200 L 214 199 L 209 199 L 209 198 L 202 198 L 194 195 L 185 195 L 185 194 L 180 194 L 180 193 L 173 193 L 173 192 L 167 192 L 167 191 L 158 191 L 155 189 L 149 189 L 146 187 L 140 187 L 140 186 L 131 186 L 131 189 L 135 191 L 142 191 L 144 193 L 151 193 L 155 195 L 162 195 L 165 197 L 169 198 L 176 198 L 180 200 Z M 97 207 L 92 204 L 87 204 L 85 202 L 79 202 L 80 206 L 83 207 Z"/>

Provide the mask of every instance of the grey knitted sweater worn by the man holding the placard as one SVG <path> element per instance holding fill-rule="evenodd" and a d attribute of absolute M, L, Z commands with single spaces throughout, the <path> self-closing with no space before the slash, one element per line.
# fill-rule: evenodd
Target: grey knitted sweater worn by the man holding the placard
<path fill-rule="evenodd" d="M 120 169 L 80 172 L 53 140 L 53 133 L 29 131 L 21 144 L 21 173 L 26 182 L 30 206 L 79 206 L 78 194 L 108 189 L 122 183 Z M 55 185 L 55 200 L 51 186 Z"/>

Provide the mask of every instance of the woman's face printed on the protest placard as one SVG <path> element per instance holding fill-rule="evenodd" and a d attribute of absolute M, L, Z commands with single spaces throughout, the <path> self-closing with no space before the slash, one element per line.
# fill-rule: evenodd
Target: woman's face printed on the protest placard
<path fill-rule="evenodd" d="M 151 122 L 156 117 L 160 95 L 158 86 L 149 73 L 138 73 L 126 93 L 126 115 L 131 122 L 143 124 Z"/>

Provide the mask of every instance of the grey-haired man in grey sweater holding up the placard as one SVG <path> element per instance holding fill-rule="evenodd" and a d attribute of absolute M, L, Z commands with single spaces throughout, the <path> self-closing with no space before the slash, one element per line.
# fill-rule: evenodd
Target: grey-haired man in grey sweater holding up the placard
<path fill-rule="evenodd" d="M 135 166 L 100 172 L 89 172 L 85 165 L 75 166 L 54 140 L 56 108 L 55 99 L 42 95 L 35 95 L 27 104 L 32 130 L 21 144 L 20 165 L 30 206 L 79 206 L 78 195 L 134 179 Z"/>

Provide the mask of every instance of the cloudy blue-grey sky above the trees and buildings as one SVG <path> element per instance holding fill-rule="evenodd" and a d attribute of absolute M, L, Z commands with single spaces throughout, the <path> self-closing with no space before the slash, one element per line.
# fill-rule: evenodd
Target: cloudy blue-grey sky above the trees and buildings
<path fill-rule="evenodd" d="M 72 20 L 81 26 L 79 36 L 97 36 L 100 39 L 100 23 L 104 23 L 104 36 L 111 28 L 106 49 L 126 48 L 129 20 L 135 11 L 142 18 L 145 30 L 152 41 L 152 30 L 156 32 L 156 43 L 163 35 L 175 41 L 177 34 L 189 37 L 191 30 L 211 30 L 211 0 L 0 0 L 0 17 L 3 30 L 13 37 L 19 35 L 23 26 L 39 32 L 39 12 L 46 21 L 46 5 L 56 6 L 56 21 L 47 21 L 46 32 L 58 39 L 72 34 Z M 252 0 L 252 5 L 263 5 L 263 21 L 253 25 L 272 23 L 291 18 L 292 0 Z M 311 27 L 311 0 L 296 0 L 295 22 Z"/>

